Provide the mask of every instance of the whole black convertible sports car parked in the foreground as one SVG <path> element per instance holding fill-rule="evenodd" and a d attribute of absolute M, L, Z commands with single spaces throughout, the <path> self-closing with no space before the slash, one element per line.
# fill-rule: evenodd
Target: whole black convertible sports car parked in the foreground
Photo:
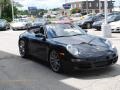
<path fill-rule="evenodd" d="M 19 51 L 24 58 L 33 55 L 49 62 L 54 72 L 105 68 L 118 60 L 117 49 L 108 40 L 70 23 L 29 29 L 19 37 Z"/>

